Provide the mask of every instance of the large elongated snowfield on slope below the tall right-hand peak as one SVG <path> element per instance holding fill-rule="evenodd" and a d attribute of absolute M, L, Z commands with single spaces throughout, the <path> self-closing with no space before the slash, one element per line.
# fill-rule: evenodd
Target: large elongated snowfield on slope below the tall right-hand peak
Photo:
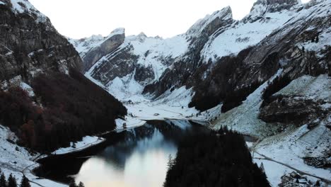
<path fill-rule="evenodd" d="M 237 55 L 241 50 L 256 45 L 292 17 L 293 12 L 282 11 L 266 13 L 265 17 L 254 22 L 233 23 L 233 26 L 226 28 L 223 33 L 218 35 L 216 32 L 212 35 L 204 45 L 201 55 L 205 62 L 209 60 L 215 62 L 227 55 Z"/>

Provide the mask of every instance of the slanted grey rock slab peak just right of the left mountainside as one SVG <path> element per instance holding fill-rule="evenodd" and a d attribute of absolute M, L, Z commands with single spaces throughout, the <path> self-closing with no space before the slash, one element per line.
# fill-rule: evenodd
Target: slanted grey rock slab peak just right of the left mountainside
<path fill-rule="evenodd" d="M 83 56 L 83 62 L 85 64 L 85 71 L 88 71 L 95 62 L 98 62 L 101 57 L 108 55 L 113 52 L 124 42 L 125 34 L 123 32 L 115 32 L 110 34 L 107 40 L 97 47 L 93 47 L 91 50 L 86 52 Z"/>

